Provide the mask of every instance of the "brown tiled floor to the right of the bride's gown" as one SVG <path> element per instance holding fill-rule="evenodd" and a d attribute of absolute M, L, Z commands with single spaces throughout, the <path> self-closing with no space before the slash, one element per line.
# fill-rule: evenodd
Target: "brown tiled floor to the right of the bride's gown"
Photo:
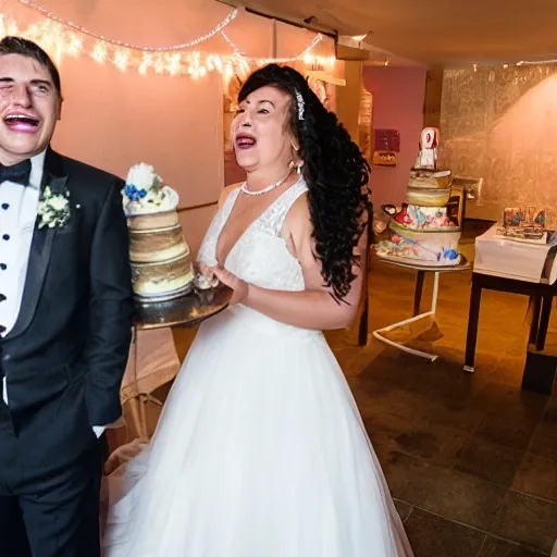
<path fill-rule="evenodd" d="M 557 539 L 557 396 L 520 389 L 528 333 L 520 296 L 484 294 L 476 372 L 463 373 L 469 283 L 470 272 L 442 276 L 436 325 L 411 342 L 436 350 L 434 363 L 371 335 L 366 348 L 355 345 L 354 332 L 327 336 L 416 557 L 549 555 Z M 370 330 L 407 317 L 412 295 L 411 271 L 374 264 Z M 424 307 L 429 301 L 425 295 Z M 189 337 L 178 338 L 181 354 Z"/>

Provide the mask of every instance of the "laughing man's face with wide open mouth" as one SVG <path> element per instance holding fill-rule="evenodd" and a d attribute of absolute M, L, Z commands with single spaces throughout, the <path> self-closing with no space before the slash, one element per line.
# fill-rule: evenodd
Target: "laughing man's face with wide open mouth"
<path fill-rule="evenodd" d="M 42 64 L 22 54 L 0 55 L 0 164 L 44 151 L 60 108 L 60 95 Z"/>

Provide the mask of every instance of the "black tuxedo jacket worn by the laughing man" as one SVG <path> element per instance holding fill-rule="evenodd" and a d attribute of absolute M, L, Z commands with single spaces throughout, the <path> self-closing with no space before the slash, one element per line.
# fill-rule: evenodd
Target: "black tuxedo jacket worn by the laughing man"
<path fill-rule="evenodd" d="M 132 286 L 123 181 L 48 149 L 41 189 L 47 185 L 69 193 L 70 221 L 35 228 L 21 310 L 0 341 L 0 364 L 29 465 L 57 466 L 96 442 L 92 425 L 121 416 Z"/>

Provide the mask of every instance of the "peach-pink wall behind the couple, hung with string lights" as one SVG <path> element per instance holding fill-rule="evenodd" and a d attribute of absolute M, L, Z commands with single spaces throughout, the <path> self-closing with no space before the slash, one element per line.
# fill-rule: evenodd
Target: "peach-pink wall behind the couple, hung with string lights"
<path fill-rule="evenodd" d="M 111 39 L 149 46 L 176 45 L 207 34 L 232 11 L 206 0 L 42 0 L 57 16 L 78 23 Z M 44 15 L 20 2 L 2 4 L 2 14 L 22 33 L 45 22 Z M 226 27 L 228 37 L 247 57 L 270 57 L 272 23 L 240 11 Z M 79 34 L 78 34 L 79 35 Z M 278 57 L 296 57 L 313 33 L 281 25 Z M 79 35 L 89 50 L 95 40 Z M 30 38 L 30 37 L 29 37 Z M 35 37 L 33 37 L 35 38 Z M 36 40 L 38 40 L 36 38 Z M 42 46 L 51 55 L 54 45 Z M 193 51 L 231 54 L 216 34 Z M 314 53 L 331 55 L 331 39 Z M 140 75 L 120 71 L 111 62 L 99 64 L 87 53 L 63 55 L 59 64 L 64 102 L 53 147 L 62 153 L 125 177 L 137 162 L 153 164 L 180 194 L 187 209 L 219 199 L 224 185 L 223 82 L 220 74 L 189 76 Z M 181 213 L 188 243 L 195 250 L 215 207 Z"/>

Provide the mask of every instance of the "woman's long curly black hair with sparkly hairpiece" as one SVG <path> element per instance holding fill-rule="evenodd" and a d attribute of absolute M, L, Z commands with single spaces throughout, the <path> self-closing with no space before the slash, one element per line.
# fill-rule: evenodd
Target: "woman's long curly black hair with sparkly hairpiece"
<path fill-rule="evenodd" d="M 238 102 L 264 86 L 276 87 L 293 99 L 289 125 L 304 161 L 315 257 L 325 285 L 337 301 L 343 300 L 356 278 L 352 267 L 360 261 L 354 249 L 372 215 L 370 165 L 336 114 L 325 109 L 299 72 L 265 65 L 246 79 Z"/>

